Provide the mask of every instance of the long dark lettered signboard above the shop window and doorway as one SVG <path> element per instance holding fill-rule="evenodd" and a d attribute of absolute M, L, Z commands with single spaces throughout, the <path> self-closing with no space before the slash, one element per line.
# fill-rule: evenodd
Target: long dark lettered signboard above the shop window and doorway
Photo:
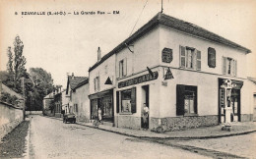
<path fill-rule="evenodd" d="M 159 73 L 153 72 L 153 76 L 151 76 L 150 74 L 146 74 L 141 77 L 134 78 L 134 79 L 127 79 L 124 81 L 120 81 L 120 82 L 118 82 L 118 88 L 129 86 L 129 85 L 134 85 L 137 83 L 150 81 L 150 80 L 154 80 L 154 79 L 158 79 L 158 78 L 159 78 Z"/>

